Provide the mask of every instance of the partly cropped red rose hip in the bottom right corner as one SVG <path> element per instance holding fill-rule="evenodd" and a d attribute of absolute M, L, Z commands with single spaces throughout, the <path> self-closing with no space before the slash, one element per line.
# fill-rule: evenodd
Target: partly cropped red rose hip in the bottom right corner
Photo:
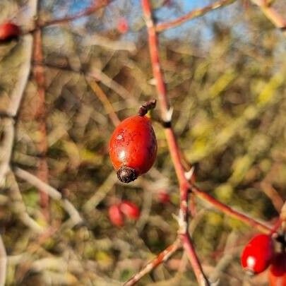
<path fill-rule="evenodd" d="M 286 286 L 286 253 L 275 254 L 268 271 L 270 286 Z"/>

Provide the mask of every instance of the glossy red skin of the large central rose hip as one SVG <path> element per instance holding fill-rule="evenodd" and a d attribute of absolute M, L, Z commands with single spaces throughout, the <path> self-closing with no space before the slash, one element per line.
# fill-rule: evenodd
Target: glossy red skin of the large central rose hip
<path fill-rule="evenodd" d="M 122 166 L 148 172 L 157 154 L 157 141 L 150 119 L 135 115 L 121 121 L 109 141 L 109 155 L 115 169 Z"/>

